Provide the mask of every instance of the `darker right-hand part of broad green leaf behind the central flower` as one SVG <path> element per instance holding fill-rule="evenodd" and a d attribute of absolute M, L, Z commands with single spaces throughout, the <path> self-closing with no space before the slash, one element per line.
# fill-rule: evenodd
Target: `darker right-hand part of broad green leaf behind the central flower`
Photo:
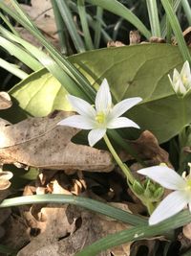
<path fill-rule="evenodd" d="M 191 122 L 191 96 L 179 99 L 167 77 L 183 64 L 178 47 L 142 44 L 91 51 L 69 59 L 93 86 L 107 78 L 116 102 L 141 97 L 143 102 L 128 111 L 128 117 L 140 128 L 151 130 L 159 143 Z"/>

